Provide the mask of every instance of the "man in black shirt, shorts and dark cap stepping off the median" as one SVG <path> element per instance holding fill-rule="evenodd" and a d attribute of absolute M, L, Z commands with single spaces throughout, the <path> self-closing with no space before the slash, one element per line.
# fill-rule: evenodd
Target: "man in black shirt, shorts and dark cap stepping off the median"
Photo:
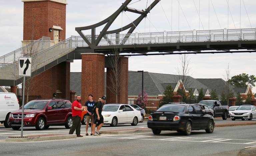
<path fill-rule="evenodd" d="M 103 111 L 103 104 L 105 103 L 105 100 L 106 100 L 106 97 L 103 96 L 101 98 L 101 101 L 96 103 L 95 112 L 94 112 L 94 124 L 92 127 L 94 136 L 100 135 L 99 131 L 104 123 L 104 119 L 103 119 L 103 116 L 101 115 L 101 112 Z M 96 125 L 97 125 L 97 131 L 95 132 Z"/>

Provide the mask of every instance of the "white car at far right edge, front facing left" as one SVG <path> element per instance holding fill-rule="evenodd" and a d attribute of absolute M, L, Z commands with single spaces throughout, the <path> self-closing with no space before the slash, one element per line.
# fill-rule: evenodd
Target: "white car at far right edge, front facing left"
<path fill-rule="evenodd" d="M 241 105 L 234 112 L 231 112 L 231 119 L 248 119 L 256 118 L 256 107 L 252 105 Z"/>

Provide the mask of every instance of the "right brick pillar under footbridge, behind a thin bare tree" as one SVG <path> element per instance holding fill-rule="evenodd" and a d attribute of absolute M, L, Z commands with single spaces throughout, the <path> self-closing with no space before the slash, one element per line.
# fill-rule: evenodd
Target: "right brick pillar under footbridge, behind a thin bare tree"
<path fill-rule="evenodd" d="M 116 103 L 116 95 L 111 91 L 113 84 L 110 76 L 111 68 L 107 68 L 106 96 L 107 104 Z M 128 104 L 128 57 L 120 57 L 120 87 L 118 88 L 117 103 Z"/>

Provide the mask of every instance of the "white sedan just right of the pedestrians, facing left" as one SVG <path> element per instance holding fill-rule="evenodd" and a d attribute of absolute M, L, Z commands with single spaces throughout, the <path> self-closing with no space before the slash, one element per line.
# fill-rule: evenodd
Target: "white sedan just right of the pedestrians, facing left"
<path fill-rule="evenodd" d="M 124 123 L 131 123 L 136 126 L 141 121 L 140 111 L 126 104 L 104 105 L 101 114 L 104 118 L 104 124 L 110 124 L 110 126 Z"/>

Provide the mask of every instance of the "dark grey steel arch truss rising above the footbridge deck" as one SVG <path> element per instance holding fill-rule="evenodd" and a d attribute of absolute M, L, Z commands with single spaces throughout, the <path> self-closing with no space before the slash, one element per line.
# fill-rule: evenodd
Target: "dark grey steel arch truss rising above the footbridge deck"
<path fill-rule="evenodd" d="M 106 34 L 119 34 L 121 31 L 127 30 L 130 28 L 130 30 L 128 31 L 128 33 L 126 34 L 126 36 L 124 37 L 124 39 L 122 40 L 121 43 L 125 43 L 126 40 L 129 38 L 129 34 L 131 34 L 135 28 L 138 26 L 138 24 L 143 20 L 144 17 L 147 16 L 147 14 L 150 12 L 150 10 L 152 8 L 154 8 L 154 6 L 160 2 L 160 0 L 154 0 L 154 2 L 152 2 L 150 4 L 150 6 L 144 11 L 144 10 L 138 10 L 138 9 L 133 9 L 133 8 L 129 8 L 127 7 L 127 5 L 131 2 L 132 0 L 126 0 L 124 3 L 122 3 L 122 5 L 119 7 L 119 9 L 117 11 L 115 11 L 111 16 L 109 16 L 108 18 L 106 18 L 105 20 L 90 25 L 90 26 L 86 26 L 86 27 L 76 27 L 75 30 L 77 31 L 77 33 L 85 40 L 85 42 L 90 46 L 91 49 L 94 49 L 95 46 L 97 46 L 100 42 L 100 40 L 102 38 L 107 39 L 107 37 L 105 36 Z M 112 30 L 112 31 L 107 31 L 109 29 L 109 27 L 111 26 L 111 24 L 115 21 L 115 19 L 118 17 L 118 15 L 122 12 L 122 11 L 129 11 L 129 12 L 133 12 L 133 13 L 138 13 L 140 14 L 140 16 L 134 20 L 132 23 L 116 29 L 116 30 Z M 97 27 L 100 27 L 102 25 L 105 25 L 105 27 L 102 29 L 102 31 L 100 32 L 99 36 L 97 37 L 97 39 L 95 40 L 95 29 Z M 92 30 L 91 33 L 91 42 L 88 40 L 88 38 L 85 36 L 85 34 L 83 34 L 83 30 Z"/>

